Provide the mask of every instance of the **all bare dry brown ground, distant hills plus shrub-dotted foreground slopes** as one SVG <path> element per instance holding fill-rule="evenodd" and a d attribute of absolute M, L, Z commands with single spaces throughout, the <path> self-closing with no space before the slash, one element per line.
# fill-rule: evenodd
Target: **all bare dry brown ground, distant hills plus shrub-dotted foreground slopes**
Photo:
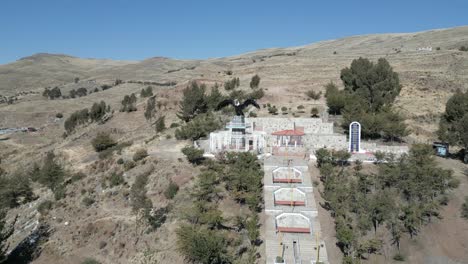
<path fill-rule="evenodd" d="M 406 141 L 430 142 L 435 139 L 434 132 L 447 98 L 456 89 L 468 89 L 468 52 L 459 51 L 463 45 L 468 46 L 468 26 L 418 33 L 355 36 L 206 60 L 155 57 L 143 61 L 112 61 L 36 54 L 0 65 L 0 128 L 38 129 L 32 133 L 0 135 L 0 158 L 4 169 L 13 172 L 29 168 L 47 151 L 54 150 L 62 157 L 61 162 L 67 170 L 82 171 L 87 175 L 85 179 L 71 183 L 67 197 L 54 205 L 47 215 L 38 213 L 37 206 L 41 201 L 51 199 L 53 194 L 44 187 L 35 186 L 35 193 L 40 198 L 9 213 L 10 219 L 19 215 L 12 244 L 23 239 L 36 221 L 45 219 L 54 231 L 42 245 L 43 253 L 35 263 L 81 263 L 89 256 L 103 263 L 184 263 L 175 250 L 174 230 L 179 221 L 177 216 L 183 213 L 184 201 L 188 199 L 184 190 L 190 188 L 191 179 L 197 173 L 180 153 L 188 142 L 173 139 L 174 128 L 156 135 L 143 115 L 144 98 L 138 98 L 137 111 L 119 112 L 125 95 L 139 94 L 141 89 L 151 85 L 161 102 L 158 114 L 166 116 L 166 126 L 169 127 L 171 123 L 179 122 L 176 117 L 178 101 L 181 91 L 190 81 L 210 86 L 215 83 L 222 85 L 233 77 L 239 77 L 240 88 L 248 90 L 250 79 L 258 74 L 260 87 L 265 90 L 260 104 L 271 103 L 279 108 L 294 109 L 304 105 L 307 110 L 304 116 L 308 116 L 312 106 L 323 110 L 325 100 L 310 100 L 306 91 L 324 91 L 323 86 L 330 81 L 341 86 L 340 70 L 349 66 L 353 59 L 367 57 L 377 60 L 384 57 L 399 73 L 403 86 L 396 106 L 406 116 L 411 129 Z M 432 51 L 417 50 L 428 46 Z M 116 85 L 116 80 L 122 83 Z M 112 88 L 102 90 L 103 85 Z M 50 100 L 42 96 L 47 87 L 59 87 L 62 95 L 66 96 L 72 89 L 79 88 L 86 88 L 88 93 L 98 88 L 99 92 Z M 66 117 L 101 100 L 115 110 L 107 123 L 93 123 L 62 138 Z M 64 118 L 58 118 L 58 113 Z M 258 114 L 268 115 L 264 108 Z M 90 144 L 99 131 L 112 131 L 118 142 L 133 143 L 118 156 L 99 159 Z M 131 159 L 141 147 L 148 150 L 149 157 L 125 172 L 126 185 L 103 189 L 102 178 L 112 171 L 121 170 L 116 160 Z M 456 174 L 462 177 L 463 167 L 458 163 L 453 166 L 457 167 Z M 128 186 L 135 181 L 136 175 L 145 171 L 150 171 L 148 196 L 156 207 L 169 203 L 163 192 L 170 181 L 180 187 L 172 201 L 174 209 L 166 224 L 154 233 L 138 230 L 135 215 L 128 205 Z M 460 188 L 466 190 L 466 179 Z M 83 193 L 94 197 L 95 203 L 84 206 Z M 415 261 L 413 263 L 425 262 L 421 255 L 431 247 L 449 259 L 467 260 L 466 250 L 464 254 L 460 252 L 466 249 L 466 245 L 454 251 L 430 242 L 442 236 L 450 223 L 464 228 L 466 233 L 466 223 L 453 220 L 458 217 L 462 195 L 462 191 L 457 192 L 456 206 L 444 211 L 449 214 L 442 220 L 445 222 L 428 227 L 430 232 L 421 238 L 422 242 L 405 241 L 408 247 L 423 252 L 409 258 Z M 455 241 L 463 240 L 463 236 L 457 236 L 454 229 L 448 231 Z"/>

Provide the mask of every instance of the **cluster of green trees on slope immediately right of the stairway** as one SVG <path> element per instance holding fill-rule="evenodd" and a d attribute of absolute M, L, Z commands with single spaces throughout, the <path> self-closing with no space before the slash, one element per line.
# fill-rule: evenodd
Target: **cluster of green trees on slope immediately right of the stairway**
<path fill-rule="evenodd" d="M 451 170 L 437 166 L 429 145 L 415 144 L 399 158 L 386 156 L 375 174 L 364 173 L 361 162 L 346 166 L 339 162 L 346 157 L 338 156 L 322 150 L 317 164 L 324 207 L 335 218 L 344 263 L 380 252 L 389 243 L 386 237 L 399 253 L 402 237 L 417 235 L 440 217 L 448 192 L 459 184 Z"/>

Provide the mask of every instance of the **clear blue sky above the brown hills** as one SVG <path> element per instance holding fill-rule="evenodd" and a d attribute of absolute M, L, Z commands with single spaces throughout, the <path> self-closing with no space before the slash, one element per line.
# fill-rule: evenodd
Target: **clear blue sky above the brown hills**
<path fill-rule="evenodd" d="M 210 58 L 468 25 L 468 1 L 1 0 L 0 64 L 38 52 Z"/>

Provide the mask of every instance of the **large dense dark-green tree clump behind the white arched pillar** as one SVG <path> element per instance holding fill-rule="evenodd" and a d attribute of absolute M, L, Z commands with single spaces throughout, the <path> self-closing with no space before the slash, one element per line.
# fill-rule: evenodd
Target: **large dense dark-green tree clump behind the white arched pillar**
<path fill-rule="evenodd" d="M 387 60 L 353 60 L 349 68 L 341 70 L 341 80 L 344 90 L 329 83 L 325 97 L 329 113 L 343 115 L 344 129 L 358 121 L 363 137 L 398 140 L 408 134 L 404 118 L 392 108 L 401 85 Z"/>

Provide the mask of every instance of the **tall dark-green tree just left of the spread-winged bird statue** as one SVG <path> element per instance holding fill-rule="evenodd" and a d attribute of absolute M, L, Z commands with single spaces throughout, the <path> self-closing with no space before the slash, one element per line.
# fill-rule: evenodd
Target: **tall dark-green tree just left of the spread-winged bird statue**
<path fill-rule="evenodd" d="M 207 99 L 205 95 L 206 86 L 198 85 L 197 82 L 191 82 L 183 91 L 183 98 L 179 104 L 180 110 L 177 116 L 189 122 L 197 115 L 206 113 L 208 110 Z"/>

